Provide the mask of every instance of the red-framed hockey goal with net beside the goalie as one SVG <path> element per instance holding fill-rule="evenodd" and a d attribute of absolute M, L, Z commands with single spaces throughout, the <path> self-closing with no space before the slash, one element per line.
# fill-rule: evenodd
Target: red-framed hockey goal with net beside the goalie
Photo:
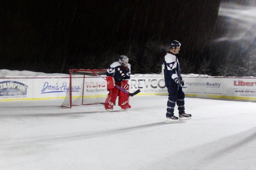
<path fill-rule="evenodd" d="M 106 70 L 69 70 L 69 88 L 62 107 L 103 104 L 107 98 Z"/>

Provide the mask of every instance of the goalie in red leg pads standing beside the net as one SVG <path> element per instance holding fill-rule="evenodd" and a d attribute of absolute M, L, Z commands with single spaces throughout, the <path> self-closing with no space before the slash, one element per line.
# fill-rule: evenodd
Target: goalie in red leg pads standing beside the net
<path fill-rule="evenodd" d="M 130 79 L 131 75 L 131 65 L 128 63 L 128 60 L 129 59 L 127 56 L 121 55 L 119 57 L 119 61 L 113 62 L 106 71 L 109 94 L 104 106 L 108 111 L 113 110 L 113 106 L 116 104 L 117 96 L 119 96 L 118 105 L 122 109 L 131 108 L 129 105 L 129 94 L 115 88 L 115 85 L 118 85 L 124 90 L 129 91 L 128 80 Z"/>

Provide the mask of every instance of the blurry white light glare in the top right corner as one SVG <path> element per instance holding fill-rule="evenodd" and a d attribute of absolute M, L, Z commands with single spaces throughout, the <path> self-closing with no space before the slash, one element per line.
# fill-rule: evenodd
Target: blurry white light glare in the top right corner
<path fill-rule="evenodd" d="M 216 42 L 243 40 L 245 44 L 249 45 L 255 40 L 256 7 L 253 4 L 256 4 L 254 0 L 251 1 L 250 6 L 237 3 L 220 4 L 219 17 L 221 17 L 222 27 L 226 32 Z"/>

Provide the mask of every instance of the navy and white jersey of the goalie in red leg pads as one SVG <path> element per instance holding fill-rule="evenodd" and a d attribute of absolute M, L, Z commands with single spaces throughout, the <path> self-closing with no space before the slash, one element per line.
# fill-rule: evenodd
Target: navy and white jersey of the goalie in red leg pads
<path fill-rule="evenodd" d="M 113 62 L 107 69 L 106 75 L 114 77 L 115 82 L 128 80 L 131 76 L 131 65 L 127 63 L 125 67 L 118 61 Z"/>

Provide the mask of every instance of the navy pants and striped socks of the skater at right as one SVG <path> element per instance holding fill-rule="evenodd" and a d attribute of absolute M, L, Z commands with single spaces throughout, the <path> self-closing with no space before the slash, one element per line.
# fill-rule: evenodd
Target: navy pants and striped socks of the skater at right
<path fill-rule="evenodd" d="M 177 103 L 179 113 L 185 113 L 185 94 L 182 90 L 182 87 L 174 88 L 174 87 L 167 87 L 169 97 L 167 102 L 167 113 L 174 115 L 174 107 Z"/>

